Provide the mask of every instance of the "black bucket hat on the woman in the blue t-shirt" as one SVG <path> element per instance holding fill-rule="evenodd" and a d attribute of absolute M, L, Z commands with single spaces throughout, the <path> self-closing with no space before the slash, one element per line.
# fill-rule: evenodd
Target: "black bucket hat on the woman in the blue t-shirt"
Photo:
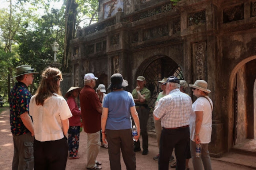
<path fill-rule="evenodd" d="M 126 83 L 123 79 L 123 76 L 119 73 L 113 74 L 110 78 L 111 83 L 108 87 L 110 90 L 117 90 L 121 89 L 123 87 L 128 86 L 128 83 Z"/>

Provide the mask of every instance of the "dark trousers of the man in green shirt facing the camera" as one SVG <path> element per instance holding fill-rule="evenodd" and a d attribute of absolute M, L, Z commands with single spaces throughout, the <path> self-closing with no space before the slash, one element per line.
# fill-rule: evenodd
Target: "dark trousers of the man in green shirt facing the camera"
<path fill-rule="evenodd" d="M 140 120 L 140 134 L 142 136 L 142 148 L 148 150 L 148 134 L 147 134 L 147 122 L 148 122 L 148 108 L 144 106 L 136 107 Z M 135 150 L 140 149 L 140 140 L 134 142 Z"/>

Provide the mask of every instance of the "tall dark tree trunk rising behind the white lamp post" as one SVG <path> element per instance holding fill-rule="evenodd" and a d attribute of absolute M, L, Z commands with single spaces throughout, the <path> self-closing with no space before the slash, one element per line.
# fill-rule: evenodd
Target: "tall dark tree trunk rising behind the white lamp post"
<path fill-rule="evenodd" d="M 66 23 L 65 23 L 64 56 L 63 56 L 63 64 L 62 64 L 63 72 L 70 71 L 70 67 L 68 69 L 69 60 L 71 57 L 70 40 L 75 38 L 77 7 L 78 7 L 78 4 L 76 4 L 75 0 L 67 0 L 66 11 L 65 11 Z"/>

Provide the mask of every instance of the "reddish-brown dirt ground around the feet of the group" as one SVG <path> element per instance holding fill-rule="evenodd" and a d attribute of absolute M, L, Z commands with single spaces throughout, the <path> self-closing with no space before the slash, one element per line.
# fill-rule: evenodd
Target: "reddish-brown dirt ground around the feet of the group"
<path fill-rule="evenodd" d="M 9 108 L 0 113 L 0 170 L 10 170 L 13 157 L 13 142 L 10 131 Z M 85 170 L 87 165 L 87 135 L 83 131 L 80 134 L 79 155 L 80 159 L 67 161 L 67 170 Z M 154 135 L 149 136 L 149 153 L 142 155 L 142 151 L 136 153 L 136 166 L 138 170 L 157 170 L 158 162 L 153 157 L 158 153 L 157 142 Z M 101 148 L 97 157 L 102 162 L 102 170 L 110 170 L 108 149 Z M 121 159 L 122 170 L 125 164 Z M 189 162 L 190 170 L 193 170 L 192 161 Z M 175 170 L 169 167 L 170 170 Z M 249 170 L 247 167 L 234 165 L 231 163 L 212 160 L 213 170 Z"/>

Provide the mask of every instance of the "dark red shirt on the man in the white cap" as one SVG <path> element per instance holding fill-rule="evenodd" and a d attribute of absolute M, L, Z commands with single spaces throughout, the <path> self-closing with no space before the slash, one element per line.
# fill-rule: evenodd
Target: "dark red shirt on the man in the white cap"
<path fill-rule="evenodd" d="M 96 133 L 101 130 L 101 112 L 97 108 L 101 107 L 98 95 L 94 89 L 85 85 L 79 95 L 82 122 L 86 133 Z"/>

